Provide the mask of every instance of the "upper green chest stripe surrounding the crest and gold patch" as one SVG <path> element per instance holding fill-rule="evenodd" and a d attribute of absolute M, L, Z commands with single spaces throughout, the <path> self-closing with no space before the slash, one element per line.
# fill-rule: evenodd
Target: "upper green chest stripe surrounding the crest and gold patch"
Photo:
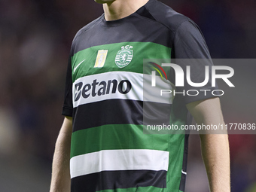
<path fill-rule="evenodd" d="M 119 68 L 115 63 L 117 52 L 122 46 L 133 46 L 133 59 L 130 64 Z M 94 68 L 98 50 L 108 50 L 105 65 L 102 68 Z M 171 48 L 151 42 L 122 42 L 117 44 L 104 44 L 81 50 L 72 56 L 72 81 L 86 75 L 95 75 L 104 72 L 138 72 L 143 73 L 143 59 L 170 59 Z M 78 64 L 82 62 L 80 66 Z M 160 64 L 160 63 L 158 63 Z M 74 71 L 75 66 L 78 69 Z"/>

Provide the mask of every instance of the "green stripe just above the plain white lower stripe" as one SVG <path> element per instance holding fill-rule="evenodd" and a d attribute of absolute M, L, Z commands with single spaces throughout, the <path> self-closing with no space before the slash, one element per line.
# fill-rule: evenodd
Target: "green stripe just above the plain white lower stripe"
<path fill-rule="evenodd" d="M 143 134 L 142 125 L 97 126 L 72 133 L 71 158 L 112 149 L 154 149 L 169 151 L 170 135 Z"/>

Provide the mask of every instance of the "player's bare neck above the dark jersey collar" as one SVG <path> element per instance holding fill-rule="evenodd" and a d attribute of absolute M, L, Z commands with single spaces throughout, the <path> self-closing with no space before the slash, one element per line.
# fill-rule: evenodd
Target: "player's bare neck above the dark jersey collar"
<path fill-rule="evenodd" d="M 103 4 L 105 20 L 119 20 L 136 12 L 145 5 L 148 0 L 115 0 Z"/>

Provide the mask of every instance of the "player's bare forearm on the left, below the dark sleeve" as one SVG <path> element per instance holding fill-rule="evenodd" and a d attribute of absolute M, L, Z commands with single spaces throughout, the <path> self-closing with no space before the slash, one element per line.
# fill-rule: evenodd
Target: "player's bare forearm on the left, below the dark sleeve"
<path fill-rule="evenodd" d="M 56 140 L 50 192 L 70 192 L 69 157 L 72 117 L 65 117 Z"/>

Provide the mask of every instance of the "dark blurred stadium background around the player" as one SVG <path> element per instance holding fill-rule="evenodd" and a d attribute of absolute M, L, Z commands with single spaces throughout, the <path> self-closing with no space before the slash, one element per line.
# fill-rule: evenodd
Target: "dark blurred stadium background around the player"
<path fill-rule="evenodd" d="M 161 2 L 200 26 L 213 58 L 256 57 L 255 0 Z M 69 48 L 101 14 L 93 0 L 0 0 L 0 191 L 49 190 Z M 255 123 L 256 66 L 235 72 L 250 83 L 221 99 L 224 118 Z M 255 148 L 256 135 L 230 135 L 232 192 L 256 191 Z M 187 192 L 209 191 L 197 135 L 188 161 Z"/>

